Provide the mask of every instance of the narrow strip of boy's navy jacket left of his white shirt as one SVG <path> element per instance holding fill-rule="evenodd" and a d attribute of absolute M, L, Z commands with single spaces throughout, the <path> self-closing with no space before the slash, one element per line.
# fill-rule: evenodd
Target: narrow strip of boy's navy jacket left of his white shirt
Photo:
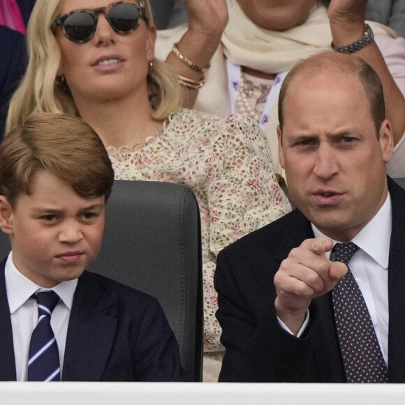
<path fill-rule="evenodd" d="M 0 381 L 15 381 L 13 330 L 6 294 L 6 280 L 4 279 L 5 265 L 6 259 L 0 264 Z"/>

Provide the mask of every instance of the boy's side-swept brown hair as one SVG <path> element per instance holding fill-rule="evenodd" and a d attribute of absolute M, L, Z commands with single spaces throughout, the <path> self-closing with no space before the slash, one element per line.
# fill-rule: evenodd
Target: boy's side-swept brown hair
<path fill-rule="evenodd" d="M 36 173 L 47 170 L 80 197 L 110 196 L 114 171 L 103 142 L 82 119 L 56 113 L 31 115 L 0 144 L 0 195 L 13 207 L 31 194 Z"/>

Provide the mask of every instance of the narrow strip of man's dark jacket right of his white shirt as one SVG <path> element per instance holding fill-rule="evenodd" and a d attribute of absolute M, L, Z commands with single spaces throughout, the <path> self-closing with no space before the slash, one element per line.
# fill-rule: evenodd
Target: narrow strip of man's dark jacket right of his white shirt
<path fill-rule="evenodd" d="M 389 381 L 405 378 L 405 191 L 388 179 L 392 200 L 392 233 L 388 267 Z"/>

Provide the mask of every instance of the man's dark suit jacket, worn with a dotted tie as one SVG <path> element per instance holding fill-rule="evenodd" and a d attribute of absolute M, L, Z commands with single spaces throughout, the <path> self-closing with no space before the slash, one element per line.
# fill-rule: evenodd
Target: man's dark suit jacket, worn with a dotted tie
<path fill-rule="evenodd" d="M 392 179 L 388 179 L 388 185 L 392 200 L 389 381 L 404 383 L 405 191 Z M 226 347 L 220 381 L 346 382 L 331 293 L 312 301 L 309 327 L 301 339 L 279 326 L 274 311 L 274 274 L 290 250 L 310 237 L 314 234 L 309 221 L 295 210 L 219 254 L 216 315 Z"/>

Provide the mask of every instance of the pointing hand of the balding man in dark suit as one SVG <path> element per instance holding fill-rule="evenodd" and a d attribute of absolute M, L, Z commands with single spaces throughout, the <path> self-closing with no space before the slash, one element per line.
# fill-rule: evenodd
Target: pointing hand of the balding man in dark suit
<path fill-rule="evenodd" d="M 277 316 L 293 334 L 304 323 L 311 300 L 332 290 L 348 271 L 344 263 L 327 260 L 325 252 L 332 247 L 332 240 L 323 237 L 304 240 L 290 251 L 274 276 Z"/>

